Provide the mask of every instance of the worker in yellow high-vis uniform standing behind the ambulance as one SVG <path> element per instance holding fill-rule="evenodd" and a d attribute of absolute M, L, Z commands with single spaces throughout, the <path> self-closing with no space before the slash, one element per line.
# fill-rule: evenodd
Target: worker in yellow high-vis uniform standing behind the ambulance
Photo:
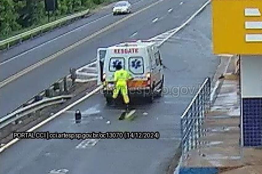
<path fill-rule="evenodd" d="M 129 97 L 127 92 L 127 81 L 133 79 L 132 74 L 124 69 L 120 64 L 116 66 L 116 72 L 114 73 L 115 88 L 113 91 L 113 98 L 116 99 L 119 91 L 121 92 L 124 102 L 128 109 Z"/>

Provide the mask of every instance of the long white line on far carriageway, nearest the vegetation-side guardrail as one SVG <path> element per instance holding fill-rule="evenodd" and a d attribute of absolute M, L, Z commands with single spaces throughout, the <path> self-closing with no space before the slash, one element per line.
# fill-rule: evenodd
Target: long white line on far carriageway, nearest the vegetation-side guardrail
<path fill-rule="evenodd" d="M 93 21 L 91 21 L 91 22 L 88 22 L 88 23 L 86 23 L 86 24 L 84 24 L 84 25 L 82 25 L 82 26 L 79 26 L 79 27 L 77 27 L 77 28 L 75 28 L 75 29 L 73 29 L 73 30 L 70 30 L 69 32 L 63 33 L 62 35 L 59 35 L 58 37 L 52 38 L 52 39 L 48 40 L 47 42 L 43 42 L 43 43 L 41 43 L 40 45 L 37 45 L 37 46 L 35 46 L 35 47 L 32 47 L 32 48 L 28 49 L 28 50 L 25 51 L 25 52 L 22 52 L 22 53 L 14 56 L 14 57 L 11 57 L 11 58 L 9 58 L 9 59 L 6 59 L 5 61 L 2 61 L 2 62 L 0 63 L 0 65 L 4 65 L 4 64 L 6 64 L 7 62 L 10 62 L 10 61 L 12 61 L 12 60 L 14 60 L 14 59 L 16 59 L 16 58 L 18 58 L 18 57 L 21 57 L 21 56 L 23 56 L 23 55 L 25 55 L 25 54 L 27 54 L 27 53 L 32 52 L 33 50 L 35 50 L 35 49 L 37 49 L 37 48 L 42 47 L 43 45 L 46 45 L 46 44 L 48 44 L 48 43 L 50 43 L 50 42 L 53 42 L 53 41 L 55 41 L 55 40 L 57 40 L 57 39 L 59 39 L 59 38 L 62 38 L 63 36 L 66 36 L 66 35 L 68 35 L 68 34 L 70 34 L 70 33 L 72 33 L 72 32 L 75 32 L 75 31 L 77 31 L 77 30 L 80 30 L 81 28 L 83 28 L 83 27 L 85 27 L 85 26 L 88 26 L 88 25 L 90 25 L 90 24 L 92 24 L 92 23 L 94 23 L 94 22 L 97 22 L 97 21 L 99 21 L 99 20 L 101 20 L 101 19 L 103 19 L 103 18 L 106 18 L 106 17 L 108 17 L 108 16 L 110 16 L 110 15 L 111 15 L 111 14 L 106 14 L 106 15 L 100 17 L 100 18 L 97 18 L 97 19 L 95 19 L 95 20 L 93 20 Z"/>

